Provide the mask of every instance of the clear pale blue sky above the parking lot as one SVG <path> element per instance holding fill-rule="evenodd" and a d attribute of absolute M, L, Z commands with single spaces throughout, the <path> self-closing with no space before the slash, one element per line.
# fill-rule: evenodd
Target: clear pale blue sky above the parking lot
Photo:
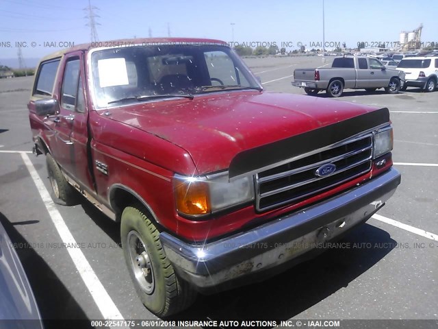
<path fill-rule="evenodd" d="M 421 3 L 421 5 L 420 5 Z M 91 0 L 100 41 L 118 38 L 215 38 L 281 48 L 318 47 L 322 42 L 323 0 Z M 59 46 L 90 42 L 88 0 L 0 0 L 0 64 L 17 58 L 41 58 Z M 396 42 L 402 31 L 424 25 L 422 42 L 438 42 L 438 1 L 324 0 L 325 41 Z M 234 23 L 234 25 L 231 25 Z M 18 42 L 18 43 L 17 43 Z M 33 42 L 33 43 L 32 43 Z M 282 43 L 284 42 L 284 43 Z M 300 43 L 299 43 L 300 42 Z M 331 48 L 331 47 L 329 47 Z"/>

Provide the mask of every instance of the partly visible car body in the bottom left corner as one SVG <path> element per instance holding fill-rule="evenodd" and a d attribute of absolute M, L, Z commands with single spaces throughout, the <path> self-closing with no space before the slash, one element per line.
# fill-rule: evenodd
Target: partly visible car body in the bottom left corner
<path fill-rule="evenodd" d="M 8 327 L 8 321 L 14 320 Z M 33 321 L 28 321 L 33 320 Z M 4 325 L 4 326 L 3 326 Z M 14 245 L 0 223 L 0 328 L 43 328 L 34 293 Z"/>

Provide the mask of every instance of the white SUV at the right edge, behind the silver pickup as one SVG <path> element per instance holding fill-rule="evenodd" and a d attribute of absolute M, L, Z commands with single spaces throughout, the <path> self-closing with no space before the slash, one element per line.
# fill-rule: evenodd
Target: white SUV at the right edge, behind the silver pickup
<path fill-rule="evenodd" d="M 437 88 L 438 56 L 403 58 L 397 69 L 403 71 L 406 76 L 403 90 L 407 87 L 419 87 L 432 92 Z"/>

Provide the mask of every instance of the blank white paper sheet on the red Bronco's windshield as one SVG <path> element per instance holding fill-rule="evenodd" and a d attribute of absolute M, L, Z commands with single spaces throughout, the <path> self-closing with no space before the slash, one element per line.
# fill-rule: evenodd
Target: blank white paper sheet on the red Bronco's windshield
<path fill-rule="evenodd" d="M 125 58 L 106 58 L 97 61 L 101 88 L 129 84 Z"/>

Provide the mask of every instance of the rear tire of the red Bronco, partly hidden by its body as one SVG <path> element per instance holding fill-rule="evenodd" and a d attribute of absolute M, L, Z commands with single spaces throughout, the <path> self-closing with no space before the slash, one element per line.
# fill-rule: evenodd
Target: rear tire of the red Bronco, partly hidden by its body
<path fill-rule="evenodd" d="M 66 178 L 62 174 L 60 166 L 57 165 L 53 156 L 50 153 L 46 154 L 47 173 L 52 186 L 51 197 L 55 204 L 62 206 L 70 206 L 76 202 L 76 194 L 73 187 L 68 184 Z"/>

